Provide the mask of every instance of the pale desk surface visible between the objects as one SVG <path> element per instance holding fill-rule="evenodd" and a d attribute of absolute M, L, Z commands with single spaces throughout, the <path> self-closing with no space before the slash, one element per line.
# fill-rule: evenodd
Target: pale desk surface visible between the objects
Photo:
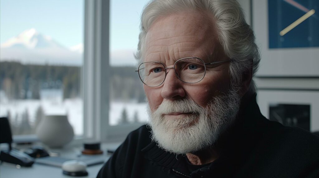
<path fill-rule="evenodd" d="M 117 148 L 120 143 L 108 143 L 102 144 L 101 149 L 103 150 L 103 157 L 105 157 L 105 162 L 111 157 L 110 154 L 106 153 L 108 148 Z M 63 149 L 50 149 L 52 152 L 60 153 L 61 157 L 76 159 L 81 153 L 82 146 L 78 147 L 66 147 Z M 88 176 L 83 178 L 96 177 L 103 164 L 97 164 L 89 166 L 86 168 L 89 173 Z M 21 167 L 16 168 L 16 165 L 3 162 L 0 165 L 0 177 L 1 178 L 71 178 L 73 176 L 63 175 L 62 168 L 47 166 L 42 164 L 34 163 L 32 167 Z"/>

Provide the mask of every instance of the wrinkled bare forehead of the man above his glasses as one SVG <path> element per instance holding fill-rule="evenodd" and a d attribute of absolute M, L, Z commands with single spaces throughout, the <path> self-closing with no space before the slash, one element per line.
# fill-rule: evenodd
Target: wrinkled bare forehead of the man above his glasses
<path fill-rule="evenodd" d="M 143 58 L 150 61 L 154 56 L 162 60 L 200 57 L 211 55 L 216 45 L 217 33 L 211 14 L 181 12 L 159 17 L 152 24 L 145 38 Z"/>

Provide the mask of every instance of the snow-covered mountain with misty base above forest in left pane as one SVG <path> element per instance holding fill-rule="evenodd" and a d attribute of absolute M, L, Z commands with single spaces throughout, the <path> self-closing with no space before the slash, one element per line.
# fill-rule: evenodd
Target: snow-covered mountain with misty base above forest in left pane
<path fill-rule="evenodd" d="M 1 61 L 21 63 L 81 65 L 83 45 L 67 49 L 35 29 L 25 30 L 0 45 Z"/>

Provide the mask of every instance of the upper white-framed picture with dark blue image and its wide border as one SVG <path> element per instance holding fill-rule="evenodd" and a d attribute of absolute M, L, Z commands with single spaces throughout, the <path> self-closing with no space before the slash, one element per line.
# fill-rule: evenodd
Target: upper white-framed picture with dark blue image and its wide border
<path fill-rule="evenodd" d="M 257 76 L 319 76 L 319 1 L 252 0 Z"/>

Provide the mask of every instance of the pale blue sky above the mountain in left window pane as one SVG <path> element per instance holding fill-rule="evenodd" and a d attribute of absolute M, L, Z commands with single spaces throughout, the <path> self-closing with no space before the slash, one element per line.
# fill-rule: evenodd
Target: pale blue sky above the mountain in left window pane
<path fill-rule="evenodd" d="M 65 47 L 83 43 L 81 0 L 1 0 L 0 43 L 35 28 Z"/>

